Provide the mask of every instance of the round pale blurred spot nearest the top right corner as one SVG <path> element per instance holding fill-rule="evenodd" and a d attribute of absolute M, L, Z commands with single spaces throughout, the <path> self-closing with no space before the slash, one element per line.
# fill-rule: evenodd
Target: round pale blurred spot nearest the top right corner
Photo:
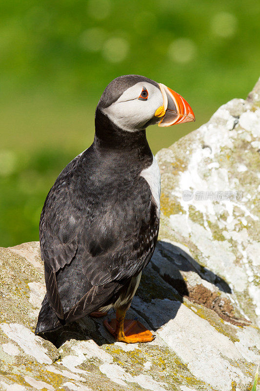
<path fill-rule="evenodd" d="M 211 21 L 211 30 L 213 34 L 227 38 L 232 37 L 237 30 L 238 21 L 235 15 L 229 12 L 220 12 L 216 14 Z"/>

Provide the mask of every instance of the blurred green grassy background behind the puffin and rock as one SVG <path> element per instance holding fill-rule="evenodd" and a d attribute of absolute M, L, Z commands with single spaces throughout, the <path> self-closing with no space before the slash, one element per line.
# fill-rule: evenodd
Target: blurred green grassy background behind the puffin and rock
<path fill-rule="evenodd" d="M 45 196 L 91 144 L 115 77 L 147 76 L 194 109 L 195 124 L 147 130 L 154 153 L 259 77 L 255 0 L 9 0 L 0 18 L 1 246 L 38 240 Z"/>

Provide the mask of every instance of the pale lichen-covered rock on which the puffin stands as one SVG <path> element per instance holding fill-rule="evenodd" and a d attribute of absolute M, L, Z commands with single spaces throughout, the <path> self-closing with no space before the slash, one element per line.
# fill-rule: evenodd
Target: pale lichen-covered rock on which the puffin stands
<path fill-rule="evenodd" d="M 157 155 L 160 241 L 129 310 L 156 339 L 126 345 L 86 317 L 34 335 L 39 243 L 0 249 L 0 390 L 249 391 L 260 352 L 260 82 Z M 112 316 L 110 313 L 109 317 Z"/>

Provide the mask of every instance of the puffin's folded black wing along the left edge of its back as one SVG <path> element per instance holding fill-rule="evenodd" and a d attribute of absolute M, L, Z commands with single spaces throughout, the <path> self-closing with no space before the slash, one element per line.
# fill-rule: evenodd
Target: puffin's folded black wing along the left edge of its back
<path fill-rule="evenodd" d="M 73 159 L 58 176 L 46 197 L 40 216 L 40 253 L 44 261 L 47 296 L 60 319 L 64 318 L 64 314 L 56 272 L 74 258 L 81 224 L 77 210 L 71 209 L 71 188 L 67 187 L 78 160 L 79 157 Z"/>

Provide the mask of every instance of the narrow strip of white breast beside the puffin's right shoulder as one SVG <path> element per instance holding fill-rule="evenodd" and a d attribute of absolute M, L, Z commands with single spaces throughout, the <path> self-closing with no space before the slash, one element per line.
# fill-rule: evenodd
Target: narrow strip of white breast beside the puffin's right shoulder
<path fill-rule="evenodd" d="M 158 217 L 160 217 L 160 169 L 155 157 L 153 158 L 151 166 L 142 170 L 140 176 L 142 176 L 150 186 L 157 205 L 157 214 Z"/>

